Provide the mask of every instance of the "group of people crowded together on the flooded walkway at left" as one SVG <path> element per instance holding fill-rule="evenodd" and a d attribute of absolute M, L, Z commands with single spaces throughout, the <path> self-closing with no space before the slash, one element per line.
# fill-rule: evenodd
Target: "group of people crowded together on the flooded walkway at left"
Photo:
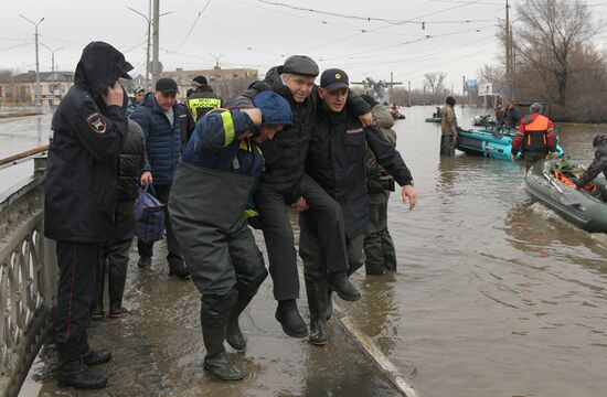
<path fill-rule="evenodd" d="M 386 222 L 394 181 L 409 210 L 417 202 L 387 109 L 350 90 L 345 71 L 320 73 L 305 55 L 288 57 L 227 100 L 204 76 L 192 79 L 185 104 L 178 103 L 171 78 L 158 79 L 152 93 L 136 87 L 128 98 L 119 78 L 129 79 L 130 69 L 111 45 L 88 44 L 52 120 L 45 236 L 56 242 L 60 267 L 58 383 L 107 384 L 89 367 L 111 354 L 89 347 L 88 321 L 105 318 L 106 273 L 108 316 L 127 313 L 134 206 L 146 185 L 167 204 L 169 276 L 191 279 L 201 292 L 210 374 L 244 377 L 224 342 L 246 348 L 238 316 L 268 270 L 284 332 L 326 344 L 333 292 L 350 301 L 361 297 L 350 275 L 362 266 L 369 276 L 396 270 Z M 299 253 L 290 207 L 299 213 Z M 263 232 L 267 270 L 252 228 Z M 153 244 L 139 239 L 137 249 L 138 267 L 150 267 Z M 297 304 L 298 254 L 309 326 Z"/>

